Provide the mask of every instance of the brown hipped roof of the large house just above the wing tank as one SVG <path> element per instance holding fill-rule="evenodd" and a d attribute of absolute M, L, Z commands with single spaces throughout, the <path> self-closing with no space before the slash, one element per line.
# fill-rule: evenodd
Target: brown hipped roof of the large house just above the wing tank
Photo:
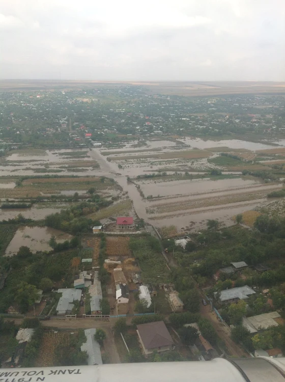
<path fill-rule="evenodd" d="M 137 330 L 146 349 L 174 344 L 163 321 L 139 324 Z"/>

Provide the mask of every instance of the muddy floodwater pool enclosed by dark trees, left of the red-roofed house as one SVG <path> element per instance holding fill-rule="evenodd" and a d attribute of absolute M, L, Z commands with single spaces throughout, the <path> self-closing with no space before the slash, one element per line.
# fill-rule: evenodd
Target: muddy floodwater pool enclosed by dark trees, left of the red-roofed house
<path fill-rule="evenodd" d="M 55 236 L 56 241 L 63 242 L 70 240 L 71 235 L 48 227 L 20 227 L 10 241 L 5 256 L 13 256 L 19 248 L 24 245 L 29 247 L 33 253 L 37 251 L 51 251 L 48 244 L 51 236 Z"/>

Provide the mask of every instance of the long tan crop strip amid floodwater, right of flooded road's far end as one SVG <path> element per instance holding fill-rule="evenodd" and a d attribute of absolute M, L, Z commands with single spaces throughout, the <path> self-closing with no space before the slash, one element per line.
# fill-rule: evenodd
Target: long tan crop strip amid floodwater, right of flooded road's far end
<path fill-rule="evenodd" d="M 187 150 L 187 151 L 173 151 L 165 152 L 161 154 L 149 154 L 149 155 L 129 155 L 129 156 L 109 156 L 109 160 L 132 160 L 132 159 L 174 159 L 174 158 L 184 158 L 184 159 L 198 159 L 198 158 L 207 158 L 211 156 L 211 153 L 206 150 Z"/>

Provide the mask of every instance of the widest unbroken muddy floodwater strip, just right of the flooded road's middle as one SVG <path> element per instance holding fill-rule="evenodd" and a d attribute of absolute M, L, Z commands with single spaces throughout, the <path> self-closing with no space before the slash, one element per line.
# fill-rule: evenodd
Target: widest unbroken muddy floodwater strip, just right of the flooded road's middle
<path fill-rule="evenodd" d="M 141 190 L 146 195 L 156 196 L 170 196 L 170 195 L 184 195 L 184 194 L 196 194 L 196 193 L 206 193 L 218 190 L 230 190 L 237 187 L 247 187 L 252 184 L 260 184 L 260 182 L 255 180 L 243 180 L 242 178 L 234 179 L 221 179 L 221 180 L 210 180 L 209 178 L 204 179 L 193 179 L 193 180 L 180 180 L 180 181 L 170 181 L 170 182 L 159 182 L 155 183 L 154 180 L 148 182 L 139 182 Z"/>

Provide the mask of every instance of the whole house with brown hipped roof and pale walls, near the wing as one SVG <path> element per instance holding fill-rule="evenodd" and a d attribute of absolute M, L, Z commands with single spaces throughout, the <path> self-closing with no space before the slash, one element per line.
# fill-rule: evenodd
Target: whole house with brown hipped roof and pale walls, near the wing
<path fill-rule="evenodd" d="M 163 321 L 137 325 L 137 335 L 145 354 L 172 350 L 174 342 Z"/>

